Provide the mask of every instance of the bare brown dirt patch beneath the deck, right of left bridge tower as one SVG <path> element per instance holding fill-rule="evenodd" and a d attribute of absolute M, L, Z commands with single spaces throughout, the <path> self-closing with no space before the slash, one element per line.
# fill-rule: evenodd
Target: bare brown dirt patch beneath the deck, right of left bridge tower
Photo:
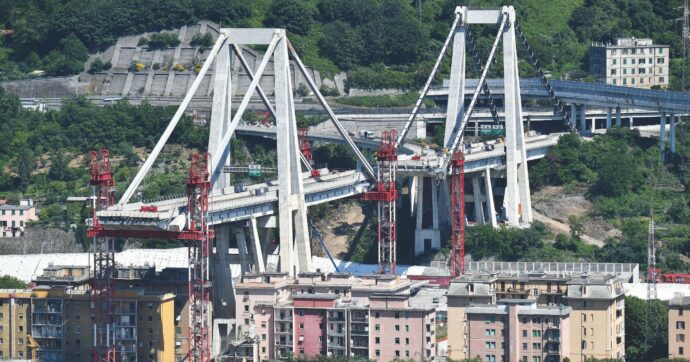
<path fill-rule="evenodd" d="M 320 220 L 316 223 L 316 228 L 323 238 L 328 251 L 334 258 L 347 252 L 347 238 L 353 235 L 364 222 L 362 208 L 356 203 L 341 204 L 337 212 L 329 220 Z M 323 250 L 317 255 L 325 256 Z"/>

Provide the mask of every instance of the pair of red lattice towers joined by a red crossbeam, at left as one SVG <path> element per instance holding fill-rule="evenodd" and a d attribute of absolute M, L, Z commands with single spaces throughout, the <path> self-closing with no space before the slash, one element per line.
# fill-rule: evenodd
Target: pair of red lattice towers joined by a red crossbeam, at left
<path fill-rule="evenodd" d="M 96 207 L 93 227 L 87 235 L 96 240 L 107 240 L 105 246 L 94 248 L 94 303 L 96 305 L 94 361 L 115 361 L 112 343 L 115 237 L 178 239 L 187 241 L 189 257 L 189 356 L 190 362 L 211 361 L 211 281 L 209 269 L 210 240 L 215 233 L 208 228 L 208 194 L 211 187 L 208 154 L 194 154 L 187 175 L 187 225 L 184 230 L 150 231 L 106 229 L 98 220 L 98 210 L 114 204 L 114 182 L 107 151 L 101 151 L 103 162 L 98 163 L 97 154 L 91 153 L 92 184 L 96 186 Z M 142 206 L 141 212 L 157 212 L 155 206 Z M 103 243 L 98 243 L 103 244 Z M 106 250 L 106 252 L 101 252 Z M 103 310 L 100 312 L 100 310 Z"/>

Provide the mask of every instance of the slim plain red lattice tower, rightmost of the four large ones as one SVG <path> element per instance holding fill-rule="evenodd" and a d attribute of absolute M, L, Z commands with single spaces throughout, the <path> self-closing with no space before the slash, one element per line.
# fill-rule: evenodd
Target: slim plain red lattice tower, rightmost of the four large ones
<path fill-rule="evenodd" d="M 450 274 L 455 278 L 465 273 L 465 156 L 458 150 L 452 157 Z"/>

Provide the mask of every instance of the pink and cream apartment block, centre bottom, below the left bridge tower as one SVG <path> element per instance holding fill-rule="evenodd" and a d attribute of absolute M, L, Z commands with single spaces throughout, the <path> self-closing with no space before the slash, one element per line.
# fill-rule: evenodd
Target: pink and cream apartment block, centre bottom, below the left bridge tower
<path fill-rule="evenodd" d="M 436 312 L 416 283 L 393 276 L 245 274 L 236 289 L 238 338 L 253 360 L 319 355 L 379 361 L 436 358 Z"/>

